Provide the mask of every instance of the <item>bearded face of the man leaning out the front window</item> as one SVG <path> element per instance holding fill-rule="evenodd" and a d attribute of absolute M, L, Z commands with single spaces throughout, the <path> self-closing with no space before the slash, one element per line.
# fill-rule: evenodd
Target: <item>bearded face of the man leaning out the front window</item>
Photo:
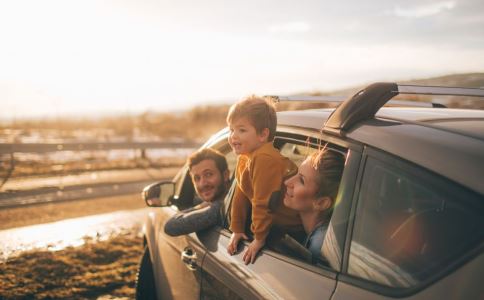
<path fill-rule="evenodd" d="M 207 202 L 225 192 L 225 174 L 221 174 L 215 161 L 205 159 L 190 169 L 193 185 L 198 196 Z"/>

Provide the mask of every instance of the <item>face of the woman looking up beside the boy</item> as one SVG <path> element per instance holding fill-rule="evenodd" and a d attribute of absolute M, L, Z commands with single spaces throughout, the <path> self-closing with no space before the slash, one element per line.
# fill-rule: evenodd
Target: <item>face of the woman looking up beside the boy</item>
<path fill-rule="evenodd" d="M 303 161 L 298 173 L 284 181 L 286 195 L 284 204 L 298 212 L 312 211 L 318 190 L 318 173 L 311 167 L 310 159 Z"/>

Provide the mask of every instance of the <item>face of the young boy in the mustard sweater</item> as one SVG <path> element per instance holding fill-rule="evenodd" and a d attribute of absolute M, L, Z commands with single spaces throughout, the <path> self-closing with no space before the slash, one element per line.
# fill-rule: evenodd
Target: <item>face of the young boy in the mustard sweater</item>
<path fill-rule="evenodd" d="M 269 129 L 257 133 L 255 127 L 246 117 L 241 117 L 229 124 L 229 144 L 235 154 L 248 154 L 267 142 Z"/>

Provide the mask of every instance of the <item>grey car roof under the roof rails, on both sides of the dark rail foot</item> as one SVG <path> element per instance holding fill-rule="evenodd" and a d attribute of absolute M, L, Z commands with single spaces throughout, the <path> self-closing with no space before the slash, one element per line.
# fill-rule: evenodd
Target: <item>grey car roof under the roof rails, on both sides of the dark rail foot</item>
<path fill-rule="evenodd" d="M 334 109 L 278 113 L 278 124 L 321 130 Z M 484 195 L 484 111 L 384 107 L 345 139 L 370 145 Z"/>

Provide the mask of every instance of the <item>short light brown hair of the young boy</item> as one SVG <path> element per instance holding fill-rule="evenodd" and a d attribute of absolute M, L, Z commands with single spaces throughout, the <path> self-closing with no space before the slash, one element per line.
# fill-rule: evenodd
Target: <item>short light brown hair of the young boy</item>
<path fill-rule="evenodd" d="M 277 127 L 276 109 L 273 102 L 268 98 L 256 95 L 248 96 L 232 105 L 227 114 L 227 123 L 246 117 L 257 133 L 261 133 L 264 128 L 269 129 L 268 142 L 274 139 Z"/>

